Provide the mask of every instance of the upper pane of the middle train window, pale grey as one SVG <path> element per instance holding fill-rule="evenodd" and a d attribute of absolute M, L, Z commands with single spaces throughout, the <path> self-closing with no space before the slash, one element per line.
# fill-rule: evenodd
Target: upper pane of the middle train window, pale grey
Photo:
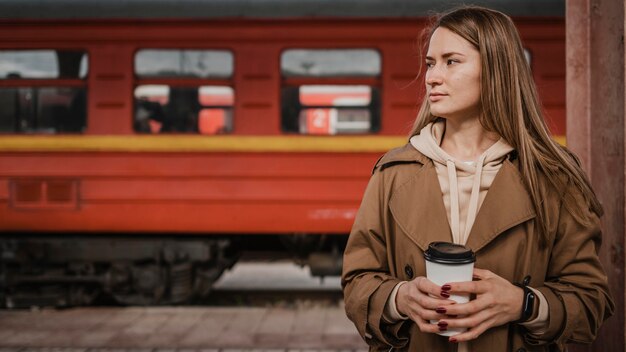
<path fill-rule="evenodd" d="M 233 54 L 226 50 L 143 49 L 135 55 L 135 74 L 140 78 L 229 78 Z"/>

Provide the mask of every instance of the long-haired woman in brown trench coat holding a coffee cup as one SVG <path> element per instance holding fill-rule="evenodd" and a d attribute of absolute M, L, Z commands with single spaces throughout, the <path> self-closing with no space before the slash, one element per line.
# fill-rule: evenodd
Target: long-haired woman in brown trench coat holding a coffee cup
<path fill-rule="evenodd" d="M 597 256 L 602 208 L 577 159 L 550 137 L 513 22 L 463 7 L 429 34 L 410 143 L 376 164 L 350 234 L 348 317 L 373 349 L 593 341 L 614 309 Z M 424 277 L 435 241 L 476 253 L 474 281 Z M 455 304 L 450 294 L 474 299 Z M 468 330 L 437 334 L 451 328 Z"/>

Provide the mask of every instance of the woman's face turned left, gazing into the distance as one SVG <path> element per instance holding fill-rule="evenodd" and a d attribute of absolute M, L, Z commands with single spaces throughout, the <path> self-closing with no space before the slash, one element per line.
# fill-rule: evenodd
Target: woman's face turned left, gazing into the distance
<path fill-rule="evenodd" d="M 434 116 L 458 122 L 480 114 L 480 53 L 447 28 L 430 38 L 426 54 L 426 94 Z"/>

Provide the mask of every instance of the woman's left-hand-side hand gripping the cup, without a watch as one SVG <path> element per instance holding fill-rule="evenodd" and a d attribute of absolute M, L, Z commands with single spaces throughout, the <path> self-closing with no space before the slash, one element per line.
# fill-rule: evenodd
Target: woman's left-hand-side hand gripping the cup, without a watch
<path fill-rule="evenodd" d="M 413 320 L 422 332 L 439 332 L 439 325 L 430 320 L 446 318 L 448 307 L 456 302 L 450 299 L 448 287 L 438 286 L 423 276 L 416 277 L 398 289 L 396 308 Z M 429 295 L 430 294 L 430 295 Z"/>

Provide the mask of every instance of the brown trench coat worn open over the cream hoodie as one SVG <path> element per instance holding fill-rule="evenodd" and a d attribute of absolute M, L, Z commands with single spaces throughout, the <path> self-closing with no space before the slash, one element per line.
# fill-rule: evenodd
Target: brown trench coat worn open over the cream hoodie
<path fill-rule="evenodd" d="M 548 351 L 563 350 L 570 342 L 591 342 L 614 309 L 597 256 L 599 220 L 590 213 L 594 226 L 580 225 L 557 192 L 548 191 L 550 240 L 539 246 L 535 209 L 514 157 L 512 153 L 496 175 L 467 246 L 476 253 L 477 268 L 511 282 L 530 277 L 529 286 L 548 300 L 549 328 L 536 337 L 522 326 L 505 324 L 489 329 L 469 348 Z M 456 350 L 447 338 L 422 333 L 410 320 L 382 320 L 393 287 L 425 276 L 423 252 L 433 241 L 452 242 L 441 187 L 432 161 L 407 144 L 376 164 L 344 254 L 346 313 L 371 350 Z"/>

